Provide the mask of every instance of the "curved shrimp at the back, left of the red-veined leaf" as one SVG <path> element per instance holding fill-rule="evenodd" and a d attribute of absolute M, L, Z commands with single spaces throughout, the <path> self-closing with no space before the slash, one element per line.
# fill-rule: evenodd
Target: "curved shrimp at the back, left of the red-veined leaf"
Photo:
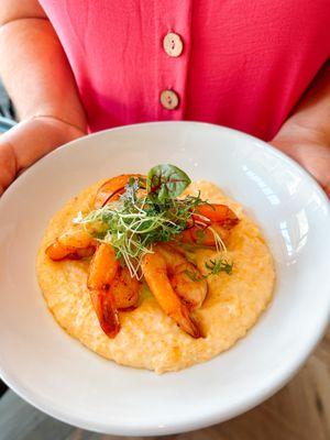
<path fill-rule="evenodd" d="M 125 191 L 131 177 L 144 177 L 141 174 L 122 174 L 107 180 L 97 191 L 94 206 L 96 209 L 102 208 L 109 201 L 118 200 Z"/>

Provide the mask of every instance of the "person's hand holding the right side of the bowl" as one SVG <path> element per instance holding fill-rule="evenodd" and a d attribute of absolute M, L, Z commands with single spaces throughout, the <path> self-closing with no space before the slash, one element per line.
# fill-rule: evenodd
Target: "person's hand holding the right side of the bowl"
<path fill-rule="evenodd" d="M 330 140 L 323 133 L 287 127 L 271 144 L 306 168 L 330 197 Z"/>

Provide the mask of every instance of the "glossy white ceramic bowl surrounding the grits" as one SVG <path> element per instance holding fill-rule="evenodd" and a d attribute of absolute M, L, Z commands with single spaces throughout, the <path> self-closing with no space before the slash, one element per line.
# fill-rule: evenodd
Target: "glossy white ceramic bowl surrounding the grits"
<path fill-rule="evenodd" d="M 84 187 L 173 163 L 219 184 L 261 224 L 275 297 L 234 348 L 179 373 L 118 366 L 67 336 L 47 311 L 35 255 L 53 213 Z M 222 127 L 160 122 L 100 132 L 28 169 L 0 200 L 0 371 L 24 399 L 69 424 L 125 436 L 227 420 L 267 398 L 302 364 L 330 310 L 330 210 L 315 180 L 265 143 Z"/>

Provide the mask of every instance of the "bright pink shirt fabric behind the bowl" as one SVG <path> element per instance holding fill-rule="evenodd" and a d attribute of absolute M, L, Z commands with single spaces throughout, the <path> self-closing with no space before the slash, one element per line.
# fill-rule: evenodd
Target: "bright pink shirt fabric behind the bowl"
<path fill-rule="evenodd" d="M 330 54 L 329 0 L 41 0 L 91 131 L 155 120 L 270 140 Z M 178 33 L 184 52 L 162 41 Z M 164 89 L 180 103 L 166 110 Z"/>

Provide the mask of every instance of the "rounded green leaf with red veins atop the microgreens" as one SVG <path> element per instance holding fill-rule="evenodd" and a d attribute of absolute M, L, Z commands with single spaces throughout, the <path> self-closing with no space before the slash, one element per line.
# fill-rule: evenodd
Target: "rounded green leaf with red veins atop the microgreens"
<path fill-rule="evenodd" d="M 169 164 L 156 165 L 150 169 L 146 190 L 160 201 L 174 199 L 191 183 L 185 172 Z"/>

